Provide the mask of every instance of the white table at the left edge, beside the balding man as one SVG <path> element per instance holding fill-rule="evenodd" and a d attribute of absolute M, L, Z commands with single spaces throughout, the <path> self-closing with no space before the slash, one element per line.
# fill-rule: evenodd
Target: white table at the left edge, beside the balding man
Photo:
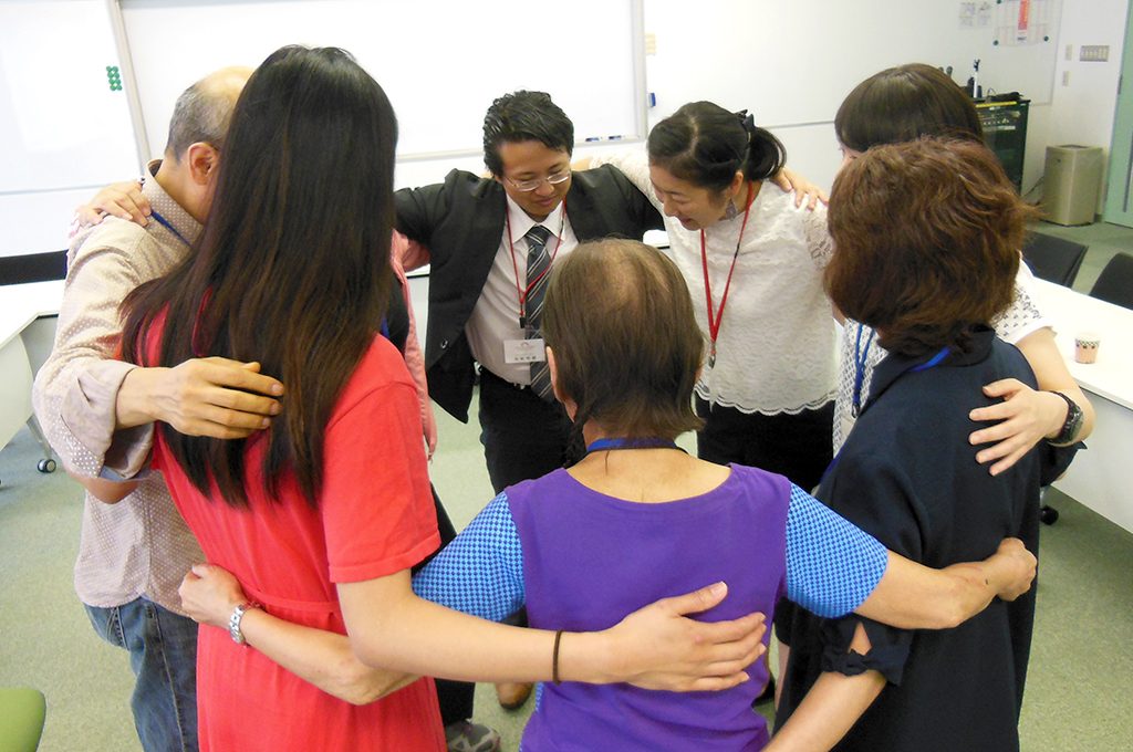
<path fill-rule="evenodd" d="M 54 469 L 51 447 L 32 413 L 32 379 L 40 364 L 32 362 L 29 330 L 41 316 L 57 316 L 63 297 L 62 280 L 0 287 L 0 448 L 25 424 L 43 446 L 40 470 Z M 42 348 L 41 348 L 42 349 Z"/>

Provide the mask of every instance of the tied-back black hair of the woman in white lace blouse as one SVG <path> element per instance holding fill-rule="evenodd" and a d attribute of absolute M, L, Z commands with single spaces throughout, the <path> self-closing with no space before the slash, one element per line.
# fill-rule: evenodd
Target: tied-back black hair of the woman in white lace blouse
<path fill-rule="evenodd" d="M 690 102 L 649 131 L 649 163 L 674 178 L 719 193 L 736 172 L 766 180 L 786 164 L 786 149 L 747 112 Z"/>

